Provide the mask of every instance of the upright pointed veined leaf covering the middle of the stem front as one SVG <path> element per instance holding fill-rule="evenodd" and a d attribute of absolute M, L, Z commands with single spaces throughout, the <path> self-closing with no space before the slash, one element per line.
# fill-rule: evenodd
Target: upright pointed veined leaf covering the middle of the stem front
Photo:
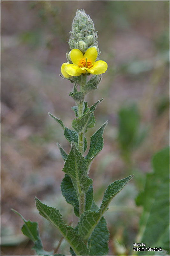
<path fill-rule="evenodd" d="M 76 145 L 71 143 L 70 154 L 65 161 L 63 172 L 67 173 L 78 194 L 86 193 L 89 186 L 92 185 L 92 179 L 87 177 L 87 166 L 85 158 L 77 150 Z"/>

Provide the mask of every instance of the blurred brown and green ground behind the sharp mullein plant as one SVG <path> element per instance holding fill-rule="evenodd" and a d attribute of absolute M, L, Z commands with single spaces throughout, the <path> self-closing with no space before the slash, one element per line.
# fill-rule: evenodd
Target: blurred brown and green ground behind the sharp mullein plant
<path fill-rule="evenodd" d="M 98 31 L 100 59 L 108 63 L 98 90 L 87 95 L 96 125 L 106 120 L 105 146 L 89 176 L 100 205 L 108 184 L 135 174 L 105 214 L 109 254 L 128 255 L 139 228 L 135 197 L 152 170 L 155 152 L 169 144 L 169 1 L 1 1 L 1 255 L 34 255 L 21 233 L 22 220 L 38 221 L 45 250 L 57 247 L 59 232 L 35 209 L 34 196 L 77 224 L 60 190 L 64 177 L 59 142 L 75 118 L 72 84 L 59 74 L 69 50 L 77 9 L 85 9 Z M 69 247 L 63 241 L 59 253 Z"/>

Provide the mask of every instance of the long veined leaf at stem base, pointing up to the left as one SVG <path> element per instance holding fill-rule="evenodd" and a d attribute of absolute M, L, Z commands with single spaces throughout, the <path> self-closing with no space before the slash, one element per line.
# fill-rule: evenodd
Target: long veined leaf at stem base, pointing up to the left
<path fill-rule="evenodd" d="M 71 226 L 67 226 L 64 223 L 57 209 L 43 204 L 37 197 L 35 197 L 35 203 L 40 214 L 59 229 L 62 236 L 67 240 L 77 255 L 89 255 L 89 250 L 81 237 Z"/>

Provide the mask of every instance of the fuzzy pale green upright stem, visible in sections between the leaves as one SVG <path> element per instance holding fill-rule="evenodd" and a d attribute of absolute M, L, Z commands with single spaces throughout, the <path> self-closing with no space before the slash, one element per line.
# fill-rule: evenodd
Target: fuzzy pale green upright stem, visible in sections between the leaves
<path fill-rule="evenodd" d="M 86 84 L 87 77 L 86 75 L 83 76 L 81 75 L 81 83 L 80 83 L 80 92 L 84 91 L 84 86 Z M 84 111 L 84 100 L 78 103 L 78 118 L 83 116 L 83 111 Z M 85 140 L 85 135 L 84 132 L 80 132 L 78 134 L 78 150 L 82 154 L 84 154 L 84 140 Z M 79 215 L 85 211 L 85 193 L 80 193 L 78 195 L 79 197 Z"/>

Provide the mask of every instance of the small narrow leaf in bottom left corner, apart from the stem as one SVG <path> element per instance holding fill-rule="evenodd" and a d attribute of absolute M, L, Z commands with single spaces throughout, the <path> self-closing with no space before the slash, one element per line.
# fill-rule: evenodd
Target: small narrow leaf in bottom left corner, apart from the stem
<path fill-rule="evenodd" d="M 22 233 L 27 236 L 30 240 L 34 242 L 34 249 L 38 255 L 52 255 L 53 252 L 46 252 L 43 249 L 43 245 L 41 242 L 39 227 L 37 222 L 32 222 L 30 220 L 25 220 L 24 217 L 14 209 L 11 209 L 13 212 L 17 213 L 21 219 L 24 221 L 24 225 L 22 227 Z"/>

